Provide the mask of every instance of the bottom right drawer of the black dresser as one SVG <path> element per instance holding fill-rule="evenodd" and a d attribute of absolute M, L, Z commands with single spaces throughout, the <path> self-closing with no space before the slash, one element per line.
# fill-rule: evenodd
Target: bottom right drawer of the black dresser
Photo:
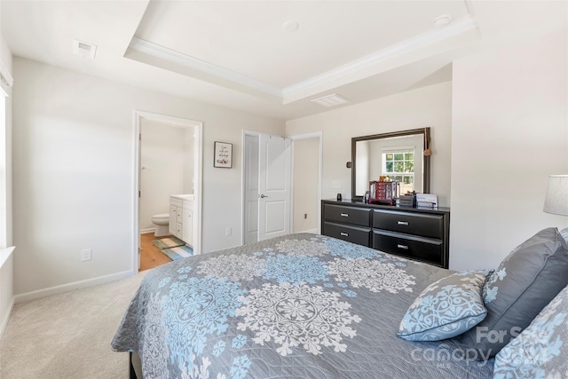
<path fill-rule="evenodd" d="M 373 249 L 447 268 L 442 241 L 373 231 Z"/>

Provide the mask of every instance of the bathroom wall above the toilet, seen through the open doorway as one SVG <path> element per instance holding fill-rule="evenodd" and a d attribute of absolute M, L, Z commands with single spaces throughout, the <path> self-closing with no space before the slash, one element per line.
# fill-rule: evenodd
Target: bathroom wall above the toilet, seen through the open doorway
<path fill-rule="evenodd" d="M 185 154 L 186 135 L 193 128 L 180 128 L 165 122 L 142 119 L 140 122 L 140 230 L 154 229 L 152 217 L 169 213 L 170 195 L 185 191 L 185 183 L 193 178 L 193 146 Z M 193 142 L 193 138 L 191 139 Z M 185 167 L 191 166 L 191 170 Z M 192 175 L 185 178 L 185 174 Z"/>

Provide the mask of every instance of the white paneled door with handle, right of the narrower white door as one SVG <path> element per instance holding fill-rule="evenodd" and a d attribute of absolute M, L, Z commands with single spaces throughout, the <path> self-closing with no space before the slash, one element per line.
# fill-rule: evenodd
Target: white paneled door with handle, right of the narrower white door
<path fill-rule="evenodd" d="M 259 136 L 258 241 L 290 233 L 291 142 Z"/>

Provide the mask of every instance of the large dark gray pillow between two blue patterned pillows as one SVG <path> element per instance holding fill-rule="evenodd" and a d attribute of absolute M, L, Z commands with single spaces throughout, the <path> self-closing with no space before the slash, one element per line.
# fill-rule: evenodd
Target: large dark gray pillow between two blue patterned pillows
<path fill-rule="evenodd" d="M 497 354 L 566 285 L 568 243 L 556 228 L 541 230 L 505 257 L 487 279 L 487 317 L 461 335 L 469 358 L 486 360 Z"/>

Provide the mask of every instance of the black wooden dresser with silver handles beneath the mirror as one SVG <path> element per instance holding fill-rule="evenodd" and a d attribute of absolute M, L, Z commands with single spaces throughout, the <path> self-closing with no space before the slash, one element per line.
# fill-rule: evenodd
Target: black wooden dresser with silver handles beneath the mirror
<path fill-rule="evenodd" d="M 450 209 L 321 201 L 321 233 L 448 268 Z"/>

